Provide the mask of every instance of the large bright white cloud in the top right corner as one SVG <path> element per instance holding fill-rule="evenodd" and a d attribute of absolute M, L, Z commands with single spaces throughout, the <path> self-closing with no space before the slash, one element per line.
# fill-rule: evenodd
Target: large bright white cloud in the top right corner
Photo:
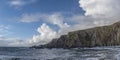
<path fill-rule="evenodd" d="M 79 3 L 86 16 L 113 17 L 120 14 L 120 0 L 80 0 Z"/>

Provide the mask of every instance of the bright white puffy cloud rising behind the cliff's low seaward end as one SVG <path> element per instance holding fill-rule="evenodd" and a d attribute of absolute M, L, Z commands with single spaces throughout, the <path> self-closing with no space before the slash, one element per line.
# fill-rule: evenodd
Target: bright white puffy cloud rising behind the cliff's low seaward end
<path fill-rule="evenodd" d="M 40 43 L 45 44 L 46 42 L 50 42 L 57 35 L 56 31 L 51 29 L 48 25 L 43 23 L 37 30 L 39 35 L 34 35 L 32 40 L 29 43 Z"/>

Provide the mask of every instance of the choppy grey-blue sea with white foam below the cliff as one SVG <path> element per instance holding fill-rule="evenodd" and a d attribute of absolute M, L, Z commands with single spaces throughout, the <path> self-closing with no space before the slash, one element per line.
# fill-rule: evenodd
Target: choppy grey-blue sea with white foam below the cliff
<path fill-rule="evenodd" d="M 34 49 L 1 47 L 0 60 L 120 60 L 120 48 Z"/>

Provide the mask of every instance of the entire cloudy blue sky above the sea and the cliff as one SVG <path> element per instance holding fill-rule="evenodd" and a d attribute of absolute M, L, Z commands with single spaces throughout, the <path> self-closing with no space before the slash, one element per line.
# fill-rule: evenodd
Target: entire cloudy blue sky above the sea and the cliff
<path fill-rule="evenodd" d="M 0 46 L 46 44 L 120 19 L 120 0 L 0 0 Z"/>

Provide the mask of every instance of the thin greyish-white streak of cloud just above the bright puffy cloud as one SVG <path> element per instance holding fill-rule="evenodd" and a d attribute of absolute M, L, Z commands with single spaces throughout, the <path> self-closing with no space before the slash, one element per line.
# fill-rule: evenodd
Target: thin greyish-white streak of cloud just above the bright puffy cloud
<path fill-rule="evenodd" d="M 67 23 L 64 23 L 65 18 L 61 13 L 52 13 L 52 14 L 23 14 L 19 19 L 20 22 L 32 23 L 44 20 L 54 25 L 57 25 L 60 28 L 69 27 Z"/>

